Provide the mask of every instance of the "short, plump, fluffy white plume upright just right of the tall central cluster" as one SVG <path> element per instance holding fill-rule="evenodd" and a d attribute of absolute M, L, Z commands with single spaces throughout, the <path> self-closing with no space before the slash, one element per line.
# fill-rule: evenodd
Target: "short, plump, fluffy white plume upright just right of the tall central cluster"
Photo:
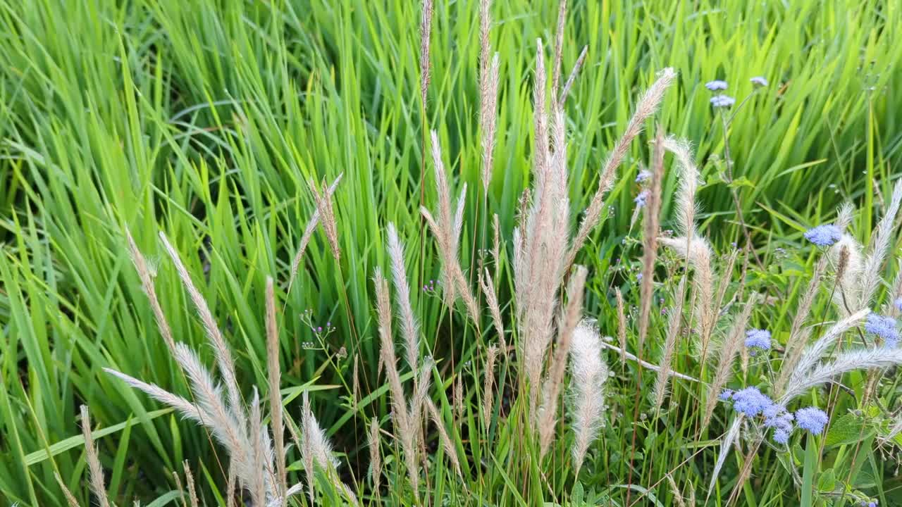
<path fill-rule="evenodd" d="M 602 338 L 585 321 L 576 327 L 573 334 L 570 368 L 571 427 L 574 431 L 572 454 L 575 475 L 579 475 L 589 445 L 602 428 L 603 387 L 608 378 L 608 367 L 602 359 Z"/>

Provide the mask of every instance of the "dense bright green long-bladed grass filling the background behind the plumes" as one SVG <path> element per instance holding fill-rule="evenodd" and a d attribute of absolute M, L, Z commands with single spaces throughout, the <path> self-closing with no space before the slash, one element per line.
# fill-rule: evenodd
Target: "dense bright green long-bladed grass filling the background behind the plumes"
<path fill-rule="evenodd" d="M 499 215 L 503 230 L 514 223 L 529 178 L 534 41 L 553 40 L 557 3 L 499 0 L 492 9 L 492 44 L 502 61 L 496 165 L 488 209 L 479 210 L 474 198 L 467 204 L 465 260 L 483 247 L 473 241 L 473 227 L 486 212 Z M 357 362 L 364 392 L 380 387 L 369 278 L 386 265 L 386 222 L 410 238 L 409 262 L 418 268 L 410 271 L 422 273 L 415 286 L 438 273 L 428 243 L 413 247 L 422 189 L 432 184 L 430 171 L 425 179 L 420 172 L 424 128 L 437 130 L 456 187 L 480 188 L 476 12 L 473 0 L 437 2 L 433 80 L 421 104 L 419 6 L 410 2 L 0 1 L 0 498 L 63 505 L 53 480 L 59 471 L 87 504 L 87 489 L 78 485 L 85 468 L 78 438 L 60 445 L 79 434 L 81 403 L 90 405 L 97 426 L 115 428 L 98 444 L 118 502 L 170 491 L 168 471 L 184 458 L 198 464 L 207 489 L 224 484 L 216 448 L 202 430 L 101 373 L 114 367 L 187 392 L 145 304 L 124 228 L 161 260 L 157 287 L 176 336 L 202 344 L 176 273 L 162 262 L 158 231 L 205 281 L 243 382 L 264 385 L 265 277 L 285 290 L 314 208 L 308 180 L 338 173 L 342 261 L 315 235 L 299 282 L 281 294 L 283 383 L 317 391 L 318 417 L 336 447 L 365 466 L 365 425 L 347 415 L 346 386 Z M 765 262 L 774 259 L 771 237 L 797 238 L 846 198 L 861 203 L 861 229 L 870 231 L 874 192 L 888 195 L 888 185 L 877 182 L 902 161 L 900 26 L 895 1 L 572 2 L 565 69 L 583 44 L 589 49 L 567 106 L 571 197 L 579 203 L 591 196 L 637 92 L 657 69 L 672 66 L 678 84 L 659 121 L 695 143 L 704 161 L 707 230 L 722 246 L 738 241 L 719 156 L 723 133 L 703 85 L 726 79 L 741 99 L 752 90 L 749 78 L 764 76 L 770 86 L 735 116 L 729 140 L 732 186 Z M 636 255 L 621 240 L 629 230 L 631 181 L 647 152 L 633 148 L 602 232 L 580 259 L 593 270 L 586 313 L 609 334 L 615 321 L 607 289 L 623 275 L 606 270 L 614 258 Z M 674 187 L 668 176 L 665 189 Z M 431 205 L 431 192 L 425 195 Z M 753 283 L 797 291 L 804 283 L 794 276 L 811 263 L 800 256 L 792 271 L 762 270 Z M 505 276 L 502 284 L 510 283 Z M 630 302 L 635 297 L 628 293 Z M 465 370 L 473 336 L 461 336 L 463 327 L 449 334 L 438 299 L 418 293 L 414 304 L 429 348 L 446 360 L 440 367 Z M 306 309 L 335 332 L 316 336 L 300 318 Z M 778 306 L 768 317 L 786 324 L 789 312 Z M 621 410 L 630 406 L 628 389 L 613 394 Z M 299 392 L 283 392 L 289 411 L 297 413 Z M 384 392 L 375 402 L 387 407 Z M 610 447 L 610 472 L 594 479 L 658 478 L 676 465 L 652 458 L 667 442 L 687 438 L 685 426 L 654 429 L 631 420 L 631 410 L 623 415 L 622 427 L 607 429 L 601 444 Z M 648 470 L 625 470 L 628 457 L 617 449 L 629 447 L 632 431 L 645 438 L 637 461 Z M 698 476 L 711 466 L 705 456 L 693 462 Z M 760 459 L 778 467 L 772 453 Z M 488 485 L 517 504 L 526 478 L 483 465 L 499 468 L 499 482 Z M 764 481 L 747 486 L 747 502 L 791 484 L 782 469 Z"/>

